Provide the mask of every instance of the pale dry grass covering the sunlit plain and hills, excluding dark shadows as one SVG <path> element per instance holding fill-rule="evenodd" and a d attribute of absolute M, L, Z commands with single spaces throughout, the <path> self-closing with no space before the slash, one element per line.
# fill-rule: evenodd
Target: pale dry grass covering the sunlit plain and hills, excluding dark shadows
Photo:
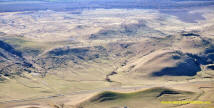
<path fill-rule="evenodd" d="M 187 53 L 204 53 L 204 50 L 213 44 L 212 28 L 214 27 L 214 21 L 212 17 L 214 14 L 213 11 L 208 10 L 201 10 L 206 20 L 198 21 L 198 23 L 186 23 L 175 16 L 162 14 L 154 10 L 139 9 L 86 10 L 79 15 L 54 11 L 39 11 L 26 15 L 23 14 L 25 12 L 1 13 L 0 20 L 8 21 L 7 24 L 0 24 L 0 31 L 6 33 L 1 39 L 23 52 L 26 51 L 26 48 L 40 51 L 35 57 L 26 56 L 29 60 L 44 59 L 47 62 L 46 58 L 50 57 L 48 55 L 50 51 L 56 48 L 63 49 L 67 46 L 70 49 L 93 49 L 94 46 L 102 46 L 106 48 L 105 53 L 107 55 L 93 60 L 76 59 L 78 63 L 70 60 L 62 67 L 49 69 L 44 78 L 35 75 L 35 73 L 25 73 L 23 74 L 24 77 L 16 77 L 15 79 L 8 78 L 5 82 L 0 83 L 0 86 L 4 88 L 0 90 L 0 101 L 69 94 L 79 90 L 94 90 L 105 87 L 144 86 L 151 88 L 153 86 L 170 85 L 179 88 L 186 84 L 186 87 L 190 86 L 193 89 L 196 85 L 191 82 L 207 81 L 210 84 L 213 81 L 213 70 L 207 69 L 207 65 L 200 65 L 202 70 L 195 76 L 151 76 L 152 73 L 159 72 L 165 67 L 173 68 L 179 63 L 186 62 Z M 10 21 L 14 22 L 10 24 Z M 139 22 L 146 25 L 145 31 L 142 28 L 137 33 L 131 31 L 134 34 L 133 36 L 124 36 L 123 33 L 119 32 L 109 34 L 112 28 L 115 28 L 115 31 L 123 32 L 124 30 L 121 29 L 124 28 L 121 27 L 121 24 L 138 27 L 138 24 L 141 24 Z M 100 30 L 107 32 L 102 34 Z M 200 37 L 184 37 L 182 36 L 183 31 L 197 31 Z M 91 34 L 102 36 L 97 39 L 89 39 Z M 113 37 L 104 37 L 105 35 Z M 210 43 L 205 44 L 204 39 L 209 40 Z M 99 52 L 93 49 L 90 54 L 96 51 Z M 179 55 L 177 51 L 183 55 Z M 62 60 L 70 57 L 69 54 L 58 58 Z M 84 56 L 90 57 L 90 54 Z M 174 56 L 180 59 L 173 59 Z M 47 65 L 52 65 L 51 63 L 48 62 Z M 43 66 L 43 64 L 40 66 Z M 189 67 L 195 68 L 195 65 Z M 183 70 L 185 69 L 180 71 Z M 112 82 L 107 81 L 106 75 L 113 71 L 117 74 L 109 76 Z M 198 89 L 194 88 L 194 90 Z M 211 90 L 211 88 L 205 90 L 206 93 L 200 99 L 210 98 L 210 100 L 213 100 L 212 97 L 209 97 L 212 95 Z M 183 95 L 186 96 L 185 93 Z M 78 96 L 81 99 L 77 99 L 82 100 L 82 97 L 88 96 L 88 94 L 78 94 Z M 142 104 L 150 107 L 152 104 L 146 101 L 151 101 L 154 106 L 160 105 L 158 99 L 154 96 L 150 97 L 131 96 L 130 99 L 121 98 L 117 101 L 98 104 L 96 104 L 97 102 L 95 104 L 89 103 L 89 108 L 124 106 L 125 104 L 134 108 L 141 108 Z M 69 106 L 69 102 L 72 100 L 68 98 L 72 98 L 72 96 L 64 97 L 65 100 L 67 99 L 65 103 L 68 103 Z M 47 99 L 46 102 L 48 101 Z M 194 107 L 194 105 L 190 106 Z"/>

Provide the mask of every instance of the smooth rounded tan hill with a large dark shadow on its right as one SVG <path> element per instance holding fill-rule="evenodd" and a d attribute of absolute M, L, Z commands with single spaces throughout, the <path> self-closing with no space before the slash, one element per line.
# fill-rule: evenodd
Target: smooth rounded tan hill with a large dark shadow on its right
<path fill-rule="evenodd" d="M 179 51 L 159 50 L 143 56 L 119 71 L 138 77 L 194 76 L 201 71 L 200 65 Z"/>

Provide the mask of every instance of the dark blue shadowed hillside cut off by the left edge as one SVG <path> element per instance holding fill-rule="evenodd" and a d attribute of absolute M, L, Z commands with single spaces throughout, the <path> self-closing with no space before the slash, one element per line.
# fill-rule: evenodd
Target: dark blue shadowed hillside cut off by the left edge
<path fill-rule="evenodd" d="M 23 58 L 20 51 L 0 40 L 0 75 L 12 76 L 32 72 L 33 65 Z M 1 77 L 2 78 L 2 77 Z"/>

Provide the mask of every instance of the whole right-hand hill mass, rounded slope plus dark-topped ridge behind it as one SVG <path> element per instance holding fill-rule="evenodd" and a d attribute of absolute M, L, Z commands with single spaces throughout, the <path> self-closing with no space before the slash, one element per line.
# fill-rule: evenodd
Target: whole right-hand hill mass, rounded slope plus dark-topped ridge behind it
<path fill-rule="evenodd" d="M 130 80 L 148 83 L 151 79 L 212 78 L 213 41 L 200 34 L 182 32 L 153 38 L 151 43 L 147 41 L 132 45 L 132 49 L 138 49 L 136 56 L 127 59 L 126 65 L 115 70 L 117 74 L 109 76 L 109 79 L 124 83 L 131 83 Z"/>

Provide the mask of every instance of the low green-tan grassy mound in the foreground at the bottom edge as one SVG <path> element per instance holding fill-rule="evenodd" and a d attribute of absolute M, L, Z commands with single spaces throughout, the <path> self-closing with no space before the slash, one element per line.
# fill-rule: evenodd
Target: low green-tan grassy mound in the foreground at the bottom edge
<path fill-rule="evenodd" d="M 78 108 L 121 108 L 125 106 L 142 108 L 142 106 L 152 107 L 156 105 L 167 107 L 170 105 L 161 104 L 161 101 L 187 100 L 193 99 L 194 96 L 195 93 L 193 92 L 162 87 L 131 93 L 106 91 L 81 103 Z"/>

